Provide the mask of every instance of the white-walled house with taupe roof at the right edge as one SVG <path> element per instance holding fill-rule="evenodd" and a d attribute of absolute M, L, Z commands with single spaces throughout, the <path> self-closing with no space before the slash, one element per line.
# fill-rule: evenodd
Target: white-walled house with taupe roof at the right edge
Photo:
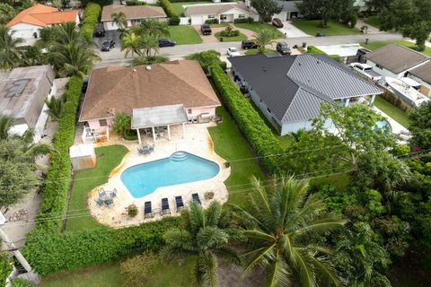
<path fill-rule="evenodd" d="M 398 44 L 388 44 L 365 54 L 366 64 L 383 76 L 400 79 L 419 65 L 429 61 L 429 57 Z"/>

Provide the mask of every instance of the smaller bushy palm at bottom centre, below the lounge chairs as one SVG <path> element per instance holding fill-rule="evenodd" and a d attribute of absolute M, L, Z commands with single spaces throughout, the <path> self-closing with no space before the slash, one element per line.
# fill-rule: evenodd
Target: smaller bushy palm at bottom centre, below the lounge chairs
<path fill-rule="evenodd" d="M 198 286 L 218 286 L 217 256 L 235 263 L 239 258 L 227 244 L 235 238 L 229 229 L 230 215 L 221 204 L 213 201 L 206 210 L 196 202 L 181 213 L 183 226 L 168 230 L 164 236 L 166 245 L 162 256 L 168 261 L 197 256 L 194 276 Z"/>

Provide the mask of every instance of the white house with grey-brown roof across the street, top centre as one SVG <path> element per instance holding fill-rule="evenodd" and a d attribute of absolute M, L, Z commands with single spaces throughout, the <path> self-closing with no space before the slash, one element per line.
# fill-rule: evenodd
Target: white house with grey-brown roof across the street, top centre
<path fill-rule="evenodd" d="M 242 2 L 218 4 L 184 5 L 184 15 L 190 17 L 192 25 L 201 25 L 207 20 L 217 19 L 219 22 L 233 22 L 235 19 L 253 18 L 259 20 L 259 15 Z"/>

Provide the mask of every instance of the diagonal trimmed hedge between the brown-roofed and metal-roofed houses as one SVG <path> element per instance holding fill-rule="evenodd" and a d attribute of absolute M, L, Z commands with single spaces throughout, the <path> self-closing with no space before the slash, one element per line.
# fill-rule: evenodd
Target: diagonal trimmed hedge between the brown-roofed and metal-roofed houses
<path fill-rule="evenodd" d="M 219 65 L 211 66 L 211 76 L 224 105 L 259 156 L 259 161 L 268 172 L 278 173 L 282 170 L 284 150 L 277 138 Z"/>

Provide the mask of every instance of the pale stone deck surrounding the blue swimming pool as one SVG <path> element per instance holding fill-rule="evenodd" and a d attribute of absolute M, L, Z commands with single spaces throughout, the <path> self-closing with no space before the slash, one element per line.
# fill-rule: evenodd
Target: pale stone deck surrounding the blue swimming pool
<path fill-rule="evenodd" d="M 123 144 L 128 147 L 129 152 L 123 158 L 119 166 L 110 172 L 108 183 L 92 189 L 87 196 L 87 208 L 92 214 L 92 217 L 103 225 L 119 228 L 142 222 L 160 220 L 162 216 L 159 212 L 163 197 L 167 197 L 169 200 L 171 215 L 179 214 L 176 210 L 175 196 L 182 196 L 183 203 L 186 206 L 189 204 L 193 193 L 198 193 L 204 207 L 206 207 L 211 200 L 217 200 L 222 204 L 226 202 L 228 191 L 224 185 L 224 181 L 229 177 L 231 170 L 230 168 L 224 167 L 225 160 L 214 152 L 214 143 L 208 133 L 207 127 L 215 125 L 214 123 L 186 125 L 186 134 L 184 138 L 182 138 L 182 126 L 172 126 L 172 140 L 169 141 L 167 138 L 158 139 L 154 143 L 154 152 L 149 155 L 138 154 L 137 141 L 124 141 L 117 136 L 111 137 L 109 143 L 97 143 L 97 146 Z M 143 143 L 153 143 L 152 137 L 143 134 L 141 134 L 141 136 L 143 138 Z M 220 171 L 214 178 L 170 187 L 159 187 L 152 194 L 140 198 L 135 198 L 130 195 L 127 187 L 124 186 L 120 179 L 120 175 L 124 170 L 136 164 L 167 158 L 173 152 L 177 151 L 189 152 L 209 161 L 214 161 L 220 166 Z M 169 175 L 161 176 L 169 177 Z M 107 191 L 114 188 L 117 189 L 117 196 L 114 197 L 113 205 L 100 207 L 95 203 L 94 200 L 98 197 L 98 190 L 102 187 Z M 214 198 L 211 200 L 205 199 L 204 194 L 206 192 L 214 192 Z M 144 204 L 146 201 L 152 202 L 153 218 L 144 219 Z M 136 204 L 138 208 L 136 217 L 130 217 L 127 214 L 127 208 L 130 204 Z"/>

